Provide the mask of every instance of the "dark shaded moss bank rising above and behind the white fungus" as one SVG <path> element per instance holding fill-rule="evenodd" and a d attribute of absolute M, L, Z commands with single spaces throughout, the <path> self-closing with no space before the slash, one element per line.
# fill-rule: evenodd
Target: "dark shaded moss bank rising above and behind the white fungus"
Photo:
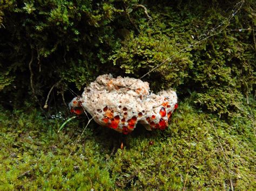
<path fill-rule="evenodd" d="M 62 79 L 55 87 L 55 100 L 62 102 L 61 95 L 69 94 L 69 87 L 81 90 L 99 74 L 141 77 L 164 62 L 143 79 L 152 90 L 172 87 L 183 98 L 193 92 L 210 112 L 228 116 L 237 112 L 234 107 L 221 108 L 227 105 L 222 98 L 211 106 L 206 102 L 224 91 L 239 105 L 240 95 L 248 99 L 252 93 L 253 32 L 232 32 L 255 25 L 252 1 L 246 1 L 234 17 L 230 17 L 232 10 L 226 10 L 239 8 L 240 2 L 237 6 L 228 2 L 219 6 L 218 1 L 212 6 L 205 1 L 145 2 L 151 20 L 138 3 L 4 2 L 0 7 L 2 100 L 20 107 L 19 97 L 27 97 L 43 105 L 50 88 Z"/>

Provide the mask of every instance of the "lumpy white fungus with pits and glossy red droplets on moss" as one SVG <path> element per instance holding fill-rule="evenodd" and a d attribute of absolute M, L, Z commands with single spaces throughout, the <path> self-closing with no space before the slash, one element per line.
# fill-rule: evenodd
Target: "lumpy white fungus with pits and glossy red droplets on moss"
<path fill-rule="evenodd" d="M 105 74 L 84 88 L 81 97 L 73 98 L 69 107 L 77 115 L 86 110 L 99 125 L 127 135 L 137 123 L 147 130 L 164 130 L 178 103 L 171 89 L 153 94 L 148 82 Z"/>

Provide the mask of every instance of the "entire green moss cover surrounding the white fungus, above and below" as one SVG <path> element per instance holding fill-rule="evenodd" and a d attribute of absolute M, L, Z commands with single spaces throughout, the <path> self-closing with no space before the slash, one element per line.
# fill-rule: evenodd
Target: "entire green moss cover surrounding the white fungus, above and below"
<path fill-rule="evenodd" d="M 3 1 L 0 189 L 255 189 L 255 4 L 229 17 L 239 2 Z M 79 119 L 57 133 L 63 97 L 154 67 L 142 80 L 180 98 L 168 130 L 124 138 L 91 123 L 78 139 Z M 55 118 L 42 117 L 55 84 Z"/>

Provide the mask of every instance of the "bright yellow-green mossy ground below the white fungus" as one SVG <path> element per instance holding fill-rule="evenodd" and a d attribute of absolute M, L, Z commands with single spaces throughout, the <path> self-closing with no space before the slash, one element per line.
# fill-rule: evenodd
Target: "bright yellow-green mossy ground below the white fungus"
<path fill-rule="evenodd" d="M 255 109 L 227 123 L 190 102 L 165 131 L 122 136 L 91 122 L 80 139 L 83 118 L 57 133 L 63 119 L 2 109 L 0 189 L 255 189 Z"/>

